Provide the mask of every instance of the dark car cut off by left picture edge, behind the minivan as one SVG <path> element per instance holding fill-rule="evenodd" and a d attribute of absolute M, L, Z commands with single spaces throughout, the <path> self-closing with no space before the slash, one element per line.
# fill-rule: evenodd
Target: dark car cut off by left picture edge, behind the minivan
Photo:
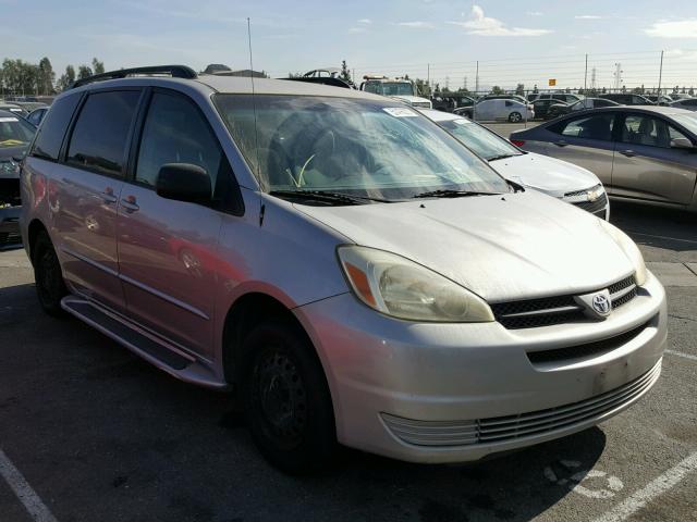
<path fill-rule="evenodd" d="M 0 110 L 0 250 L 22 245 L 20 161 L 35 132 L 16 113 Z"/>

